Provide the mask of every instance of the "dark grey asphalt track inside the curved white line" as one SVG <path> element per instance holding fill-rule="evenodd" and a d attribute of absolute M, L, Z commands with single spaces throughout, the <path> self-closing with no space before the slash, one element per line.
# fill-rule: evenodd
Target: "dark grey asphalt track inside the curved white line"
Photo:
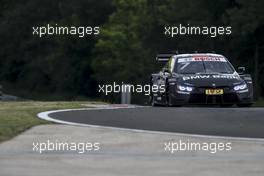
<path fill-rule="evenodd" d="M 264 138 L 264 108 L 138 107 L 55 112 L 49 117 L 107 127 Z"/>

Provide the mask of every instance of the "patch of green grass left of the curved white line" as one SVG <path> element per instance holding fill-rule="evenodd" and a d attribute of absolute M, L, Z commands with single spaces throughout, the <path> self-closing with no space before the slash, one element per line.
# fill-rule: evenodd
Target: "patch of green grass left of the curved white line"
<path fill-rule="evenodd" d="M 38 119 L 37 113 L 67 108 L 81 108 L 92 102 L 0 102 L 0 142 L 40 124 L 50 122 Z"/>

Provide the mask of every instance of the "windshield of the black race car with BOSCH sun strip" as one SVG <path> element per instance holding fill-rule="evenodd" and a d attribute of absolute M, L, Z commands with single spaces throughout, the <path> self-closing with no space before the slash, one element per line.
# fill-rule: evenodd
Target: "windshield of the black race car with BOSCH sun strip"
<path fill-rule="evenodd" d="M 234 69 L 224 57 L 178 58 L 174 72 L 180 74 L 233 73 Z"/>

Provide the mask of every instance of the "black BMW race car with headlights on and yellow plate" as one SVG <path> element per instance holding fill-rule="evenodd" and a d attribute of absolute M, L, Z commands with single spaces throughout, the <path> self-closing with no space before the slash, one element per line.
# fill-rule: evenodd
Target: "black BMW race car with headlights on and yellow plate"
<path fill-rule="evenodd" d="M 152 106 L 215 104 L 248 107 L 253 104 L 253 83 L 245 67 L 238 72 L 226 57 L 214 53 L 158 54 L 166 62 L 150 84 L 158 89 L 150 95 Z"/>

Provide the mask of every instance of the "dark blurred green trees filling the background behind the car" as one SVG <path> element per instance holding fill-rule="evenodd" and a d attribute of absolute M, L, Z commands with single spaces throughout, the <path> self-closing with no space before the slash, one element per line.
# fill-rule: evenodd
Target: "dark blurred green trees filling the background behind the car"
<path fill-rule="evenodd" d="M 0 84 L 26 99 L 103 99 L 98 84 L 148 83 L 160 52 L 211 52 L 245 66 L 264 95 L 262 0 L 0 0 Z M 100 35 L 32 35 L 33 26 L 100 26 Z M 169 38 L 164 26 L 231 26 L 232 35 Z M 132 97 L 142 103 L 146 96 Z"/>

